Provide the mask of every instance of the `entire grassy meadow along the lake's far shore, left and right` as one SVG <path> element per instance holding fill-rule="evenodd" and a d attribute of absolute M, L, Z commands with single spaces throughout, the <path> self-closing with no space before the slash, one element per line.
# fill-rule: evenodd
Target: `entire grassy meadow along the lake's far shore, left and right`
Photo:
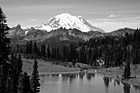
<path fill-rule="evenodd" d="M 23 58 L 23 71 L 31 74 L 33 60 L 32 59 L 24 59 Z M 38 67 L 39 67 L 39 75 L 44 74 L 67 74 L 67 73 L 79 73 L 79 67 L 64 67 L 60 64 L 52 64 L 52 62 L 39 60 L 38 59 Z M 99 68 L 99 69 L 88 69 L 85 72 L 88 73 L 99 73 L 106 77 L 113 78 L 115 80 L 121 81 L 123 83 L 127 83 L 130 85 L 136 85 L 140 87 L 140 65 L 131 65 L 131 77 L 130 79 L 122 79 L 122 74 L 124 71 L 123 66 L 119 67 L 111 67 L 111 68 Z"/>

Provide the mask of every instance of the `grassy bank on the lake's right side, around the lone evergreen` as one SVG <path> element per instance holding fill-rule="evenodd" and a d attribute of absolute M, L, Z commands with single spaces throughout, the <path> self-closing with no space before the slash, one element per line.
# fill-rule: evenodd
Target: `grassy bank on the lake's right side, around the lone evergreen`
<path fill-rule="evenodd" d="M 95 70 L 89 70 L 89 73 L 95 72 Z M 140 65 L 131 66 L 131 78 L 128 80 L 123 80 L 123 67 L 111 67 L 96 69 L 96 73 L 103 74 L 107 77 L 114 78 L 116 80 L 128 83 L 130 85 L 140 86 Z"/>

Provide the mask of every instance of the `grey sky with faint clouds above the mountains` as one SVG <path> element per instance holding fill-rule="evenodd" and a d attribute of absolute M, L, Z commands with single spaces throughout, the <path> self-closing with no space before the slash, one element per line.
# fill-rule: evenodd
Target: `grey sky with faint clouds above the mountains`
<path fill-rule="evenodd" d="M 10 27 L 37 26 L 58 14 L 70 13 L 107 32 L 140 28 L 140 0 L 0 0 L 0 7 Z"/>

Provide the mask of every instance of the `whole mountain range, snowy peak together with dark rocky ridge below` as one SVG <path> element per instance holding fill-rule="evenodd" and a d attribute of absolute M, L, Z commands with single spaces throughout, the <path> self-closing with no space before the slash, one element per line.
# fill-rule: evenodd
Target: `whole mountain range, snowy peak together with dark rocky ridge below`
<path fill-rule="evenodd" d="M 62 19 L 65 17 L 64 19 Z M 78 24 L 89 26 L 94 31 L 81 31 L 77 27 L 75 27 L 75 20 Z M 65 20 L 65 21 L 64 21 Z M 82 22 L 82 23 L 81 23 Z M 62 23 L 62 24 L 59 24 Z M 51 29 L 48 27 L 56 27 L 55 29 Z M 60 14 L 50 19 L 48 24 L 43 24 L 42 26 L 46 26 L 47 29 L 51 29 L 51 31 L 47 31 L 45 29 L 39 29 L 38 27 L 31 27 L 27 29 L 22 29 L 21 25 L 17 25 L 9 30 L 8 36 L 16 42 L 22 43 L 24 41 L 35 40 L 37 42 L 57 42 L 57 41 L 71 41 L 71 42 L 79 42 L 79 41 L 87 41 L 91 38 L 96 37 L 105 37 L 105 36 L 124 36 L 126 33 L 133 34 L 135 29 L 131 28 L 122 28 L 115 30 L 113 32 L 104 33 L 100 28 L 94 27 L 90 25 L 85 19 L 81 16 L 72 16 L 70 14 Z M 81 25 L 80 25 L 81 27 Z M 97 30 L 97 31 L 96 31 Z"/>

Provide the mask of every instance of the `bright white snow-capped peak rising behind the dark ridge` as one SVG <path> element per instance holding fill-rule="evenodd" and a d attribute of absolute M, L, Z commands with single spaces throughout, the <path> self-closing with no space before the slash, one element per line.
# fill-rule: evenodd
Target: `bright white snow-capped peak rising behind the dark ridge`
<path fill-rule="evenodd" d="M 46 24 L 42 24 L 41 26 L 36 26 L 35 29 L 51 31 L 51 30 L 59 29 L 61 27 L 66 29 L 75 28 L 82 32 L 87 32 L 87 31 L 104 32 L 102 29 L 92 26 L 81 16 L 73 16 L 68 13 L 62 13 L 60 15 L 57 15 L 54 18 L 51 18 Z"/>

